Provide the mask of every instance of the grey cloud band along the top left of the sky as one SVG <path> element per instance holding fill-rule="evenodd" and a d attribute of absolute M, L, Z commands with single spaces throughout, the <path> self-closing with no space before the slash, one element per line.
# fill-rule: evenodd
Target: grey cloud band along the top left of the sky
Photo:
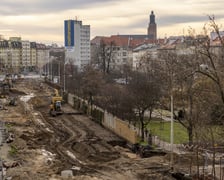
<path fill-rule="evenodd" d="M 119 0 L 1 0 L 1 15 L 57 13 L 70 9 L 104 6 Z"/>

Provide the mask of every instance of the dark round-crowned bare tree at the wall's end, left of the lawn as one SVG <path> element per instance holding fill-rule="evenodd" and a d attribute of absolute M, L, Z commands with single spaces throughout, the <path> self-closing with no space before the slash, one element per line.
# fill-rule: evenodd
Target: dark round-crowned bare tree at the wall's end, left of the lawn
<path fill-rule="evenodd" d="M 127 85 L 129 97 L 132 99 L 132 110 L 135 112 L 136 120 L 141 127 L 141 140 L 144 141 L 144 129 L 147 122 L 144 114 L 149 111 L 150 117 L 157 105 L 161 89 L 155 74 L 147 72 L 133 72 Z"/>

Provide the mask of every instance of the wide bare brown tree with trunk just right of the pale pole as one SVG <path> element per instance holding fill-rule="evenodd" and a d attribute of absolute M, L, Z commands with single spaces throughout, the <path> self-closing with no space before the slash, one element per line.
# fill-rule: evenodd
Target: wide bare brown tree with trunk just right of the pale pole
<path fill-rule="evenodd" d="M 189 144 L 192 144 L 199 113 L 199 109 L 195 108 L 197 93 L 200 92 L 200 89 L 195 88 L 197 56 L 194 52 L 178 55 L 175 50 L 163 50 L 160 58 L 164 60 L 161 69 L 169 92 L 167 96 L 173 96 L 174 112 L 177 112 L 173 114 L 174 118 L 186 128 Z"/>

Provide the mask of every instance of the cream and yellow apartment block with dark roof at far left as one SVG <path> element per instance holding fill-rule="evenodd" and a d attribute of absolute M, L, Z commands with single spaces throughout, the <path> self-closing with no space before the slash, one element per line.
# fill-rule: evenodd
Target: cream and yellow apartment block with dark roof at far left
<path fill-rule="evenodd" d="M 46 45 L 11 37 L 0 40 L 0 72 L 22 73 L 39 71 L 49 60 Z"/>

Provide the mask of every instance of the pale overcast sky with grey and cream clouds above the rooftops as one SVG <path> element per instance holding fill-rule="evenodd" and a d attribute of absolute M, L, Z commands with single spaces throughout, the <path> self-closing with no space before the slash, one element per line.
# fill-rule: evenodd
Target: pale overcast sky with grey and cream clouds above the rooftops
<path fill-rule="evenodd" d="M 224 24 L 223 0 L 1 0 L 0 34 L 5 38 L 64 44 L 64 20 L 91 27 L 91 39 L 113 34 L 146 34 L 154 11 L 159 38 L 202 32 L 208 15 Z"/>

